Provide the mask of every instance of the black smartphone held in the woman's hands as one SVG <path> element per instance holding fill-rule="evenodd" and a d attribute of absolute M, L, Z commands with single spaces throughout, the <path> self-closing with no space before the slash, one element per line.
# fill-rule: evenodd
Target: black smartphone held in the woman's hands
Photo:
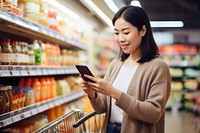
<path fill-rule="evenodd" d="M 76 66 L 77 70 L 79 71 L 79 73 L 81 74 L 83 80 L 89 81 L 89 82 L 94 82 L 84 76 L 84 74 L 94 76 L 87 66 L 85 66 L 85 65 L 75 65 L 75 66 Z"/>

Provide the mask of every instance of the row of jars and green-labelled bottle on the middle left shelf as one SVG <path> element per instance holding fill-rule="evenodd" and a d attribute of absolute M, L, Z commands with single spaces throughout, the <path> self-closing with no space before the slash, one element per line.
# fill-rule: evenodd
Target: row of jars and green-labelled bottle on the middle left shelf
<path fill-rule="evenodd" d="M 35 40 L 33 44 L 0 38 L 1 65 L 60 66 L 79 64 L 79 53 Z"/>

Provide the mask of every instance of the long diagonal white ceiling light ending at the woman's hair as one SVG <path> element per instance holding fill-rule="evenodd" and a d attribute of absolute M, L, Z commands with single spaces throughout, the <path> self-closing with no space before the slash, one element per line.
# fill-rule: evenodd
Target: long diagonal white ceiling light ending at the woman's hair
<path fill-rule="evenodd" d="M 108 26 L 113 27 L 111 19 L 100 10 L 92 0 L 82 0 L 81 2 L 87 4 L 87 6 L 89 6 Z"/>

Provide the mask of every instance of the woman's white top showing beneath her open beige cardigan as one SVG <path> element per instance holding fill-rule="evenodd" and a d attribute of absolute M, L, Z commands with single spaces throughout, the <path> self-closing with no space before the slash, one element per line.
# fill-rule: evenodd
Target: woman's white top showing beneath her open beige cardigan
<path fill-rule="evenodd" d="M 138 65 L 122 66 L 116 79 L 113 82 L 113 86 L 123 92 L 127 92 L 128 86 L 133 78 L 133 75 Z M 112 122 L 122 122 L 123 110 L 115 105 L 116 100 L 112 98 L 111 117 Z M 124 103 L 125 104 L 125 103 Z"/>

